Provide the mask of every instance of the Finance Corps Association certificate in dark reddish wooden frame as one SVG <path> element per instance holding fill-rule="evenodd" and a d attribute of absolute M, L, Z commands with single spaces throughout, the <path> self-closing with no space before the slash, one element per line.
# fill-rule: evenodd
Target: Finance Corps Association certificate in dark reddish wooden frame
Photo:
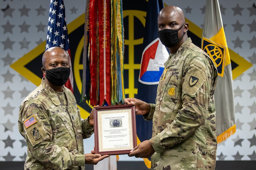
<path fill-rule="evenodd" d="M 128 154 L 137 146 L 134 105 L 100 106 L 93 111 L 96 154 Z"/>

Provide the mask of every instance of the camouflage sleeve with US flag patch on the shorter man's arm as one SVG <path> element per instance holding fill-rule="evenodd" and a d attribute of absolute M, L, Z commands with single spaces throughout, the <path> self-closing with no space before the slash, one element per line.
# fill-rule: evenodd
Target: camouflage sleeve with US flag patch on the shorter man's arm
<path fill-rule="evenodd" d="M 39 104 L 30 104 L 22 111 L 23 129 L 30 153 L 38 161 L 56 170 L 84 166 L 85 155 L 71 153 L 66 147 L 60 147 L 52 141 L 53 130 L 48 114 Z M 26 121 L 30 118 L 31 121 L 36 121 L 32 125 L 26 125 Z M 70 136 L 64 135 L 60 142 L 70 140 Z"/>

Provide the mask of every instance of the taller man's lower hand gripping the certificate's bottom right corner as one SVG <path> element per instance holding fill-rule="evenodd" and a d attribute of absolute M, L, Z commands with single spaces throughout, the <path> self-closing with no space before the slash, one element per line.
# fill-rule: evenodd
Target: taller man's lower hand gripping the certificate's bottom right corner
<path fill-rule="evenodd" d="M 149 140 L 141 142 L 138 146 L 134 147 L 128 156 L 135 156 L 136 158 L 148 158 L 155 152 Z"/>

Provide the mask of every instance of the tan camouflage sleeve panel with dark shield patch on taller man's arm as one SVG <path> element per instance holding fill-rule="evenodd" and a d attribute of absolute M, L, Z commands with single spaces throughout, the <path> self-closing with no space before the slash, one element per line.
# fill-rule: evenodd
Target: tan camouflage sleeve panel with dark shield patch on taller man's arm
<path fill-rule="evenodd" d="M 184 77 L 182 91 L 191 97 L 195 97 L 205 80 L 205 72 L 198 67 L 192 67 Z"/>

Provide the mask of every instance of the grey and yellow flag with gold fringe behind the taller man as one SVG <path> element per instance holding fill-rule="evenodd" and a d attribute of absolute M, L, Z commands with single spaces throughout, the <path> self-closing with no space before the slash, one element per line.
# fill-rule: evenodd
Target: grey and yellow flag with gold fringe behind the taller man
<path fill-rule="evenodd" d="M 202 49 L 212 58 L 218 70 L 214 99 L 217 142 L 220 143 L 236 132 L 236 124 L 231 60 L 218 0 L 206 1 Z"/>

